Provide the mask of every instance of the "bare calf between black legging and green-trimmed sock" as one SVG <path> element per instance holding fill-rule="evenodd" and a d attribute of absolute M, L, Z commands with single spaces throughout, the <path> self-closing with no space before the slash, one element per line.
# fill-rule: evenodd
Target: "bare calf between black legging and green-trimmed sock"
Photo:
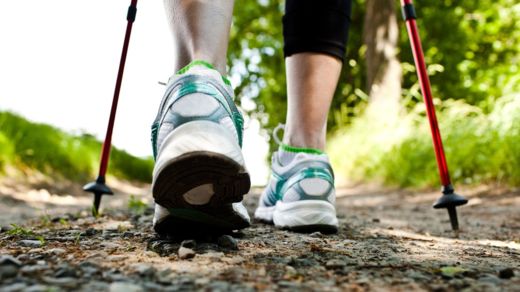
<path fill-rule="evenodd" d="M 287 119 L 283 143 L 325 149 L 327 115 L 341 72 L 341 60 L 323 53 L 285 59 Z"/>

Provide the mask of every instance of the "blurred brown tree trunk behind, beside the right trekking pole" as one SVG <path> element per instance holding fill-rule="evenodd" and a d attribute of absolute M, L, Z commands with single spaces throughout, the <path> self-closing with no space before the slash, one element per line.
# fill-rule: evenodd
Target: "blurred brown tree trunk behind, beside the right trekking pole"
<path fill-rule="evenodd" d="M 363 39 L 366 45 L 369 111 L 397 118 L 400 112 L 401 64 L 395 0 L 367 0 Z M 385 113 L 381 116 L 381 110 Z"/>

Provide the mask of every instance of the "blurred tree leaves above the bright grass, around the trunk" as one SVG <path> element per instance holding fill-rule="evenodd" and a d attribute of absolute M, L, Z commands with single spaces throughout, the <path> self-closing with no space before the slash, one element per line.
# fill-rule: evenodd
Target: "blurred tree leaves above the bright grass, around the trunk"
<path fill-rule="evenodd" d="M 285 121 L 283 3 L 236 3 L 228 53 L 239 101 L 253 99 L 256 108 L 250 114 L 268 129 Z M 520 92 L 517 1 L 420 1 L 415 6 L 435 97 L 464 99 L 488 112 L 501 96 Z M 331 132 L 349 125 L 367 102 L 364 15 L 364 0 L 353 0 L 348 51 L 329 115 Z M 411 109 L 422 97 L 404 22 L 399 25 L 403 104 Z"/>

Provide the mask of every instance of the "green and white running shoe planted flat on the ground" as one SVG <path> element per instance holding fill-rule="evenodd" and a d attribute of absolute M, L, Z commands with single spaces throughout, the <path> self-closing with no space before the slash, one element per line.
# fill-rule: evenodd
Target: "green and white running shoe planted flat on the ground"
<path fill-rule="evenodd" d="M 255 218 L 297 232 L 336 233 L 335 200 L 328 156 L 316 149 L 280 143 Z"/>

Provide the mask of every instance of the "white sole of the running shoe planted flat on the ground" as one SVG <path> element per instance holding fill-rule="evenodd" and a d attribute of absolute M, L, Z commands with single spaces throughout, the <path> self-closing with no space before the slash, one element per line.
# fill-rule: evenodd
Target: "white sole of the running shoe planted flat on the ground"
<path fill-rule="evenodd" d="M 274 224 L 284 230 L 300 233 L 319 231 L 324 234 L 338 232 L 338 219 L 334 205 L 325 201 L 305 200 L 277 202 L 273 207 L 258 207 L 255 218 Z"/>

